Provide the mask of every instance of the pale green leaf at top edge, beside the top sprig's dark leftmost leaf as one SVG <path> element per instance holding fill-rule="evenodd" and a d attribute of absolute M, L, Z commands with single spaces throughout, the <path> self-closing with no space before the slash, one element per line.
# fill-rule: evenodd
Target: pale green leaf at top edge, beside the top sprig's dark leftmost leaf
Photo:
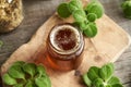
<path fill-rule="evenodd" d="M 70 12 L 74 12 L 76 10 L 82 10 L 82 2 L 81 0 L 71 0 L 68 4 Z"/>

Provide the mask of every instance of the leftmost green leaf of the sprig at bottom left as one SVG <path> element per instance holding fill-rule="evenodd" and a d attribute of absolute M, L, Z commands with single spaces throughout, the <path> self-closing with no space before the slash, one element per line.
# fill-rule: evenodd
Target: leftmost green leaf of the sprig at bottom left
<path fill-rule="evenodd" d="M 2 80 L 7 85 L 15 85 L 16 84 L 16 80 L 14 78 L 12 78 L 8 73 L 2 76 Z"/>

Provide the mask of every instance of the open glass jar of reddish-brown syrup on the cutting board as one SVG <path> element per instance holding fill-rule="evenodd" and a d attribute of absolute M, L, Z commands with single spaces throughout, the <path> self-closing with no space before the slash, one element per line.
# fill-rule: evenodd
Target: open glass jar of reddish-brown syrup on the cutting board
<path fill-rule="evenodd" d="M 82 33 L 71 24 L 52 27 L 47 39 L 46 62 L 55 70 L 75 70 L 82 62 L 84 39 Z"/>

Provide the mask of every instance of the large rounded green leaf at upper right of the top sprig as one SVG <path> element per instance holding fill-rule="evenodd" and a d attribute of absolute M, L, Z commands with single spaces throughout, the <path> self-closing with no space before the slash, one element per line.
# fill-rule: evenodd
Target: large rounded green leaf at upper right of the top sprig
<path fill-rule="evenodd" d="M 97 18 L 102 17 L 103 14 L 104 14 L 104 8 L 98 2 L 88 3 L 88 5 L 85 8 L 85 11 L 87 13 L 94 13 L 94 14 L 96 14 Z"/>

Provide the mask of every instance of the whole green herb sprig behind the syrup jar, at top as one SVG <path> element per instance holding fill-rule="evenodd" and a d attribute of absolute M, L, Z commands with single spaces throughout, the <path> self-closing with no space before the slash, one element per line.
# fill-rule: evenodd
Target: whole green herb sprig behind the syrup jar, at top
<path fill-rule="evenodd" d="M 94 37 L 97 34 L 95 21 L 103 16 L 104 8 L 97 0 L 92 0 L 85 8 L 83 8 L 81 0 L 71 0 L 61 3 L 57 12 L 62 18 L 72 15 L 81 32 L 87 37 Z"/>

